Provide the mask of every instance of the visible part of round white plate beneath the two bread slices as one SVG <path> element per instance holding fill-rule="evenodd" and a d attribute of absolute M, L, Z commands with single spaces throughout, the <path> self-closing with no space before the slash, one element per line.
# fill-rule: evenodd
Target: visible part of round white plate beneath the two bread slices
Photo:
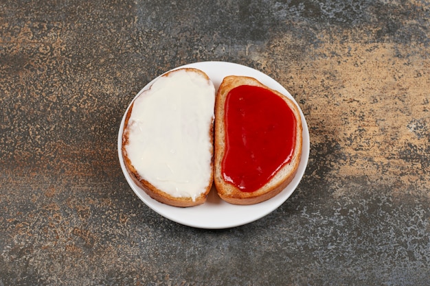
<path fill-rule="evenodd" d="M 286 91 L 284 87 L 282 87 L 278 82 L 270 78 L 268 75 L 260 71 L 256 71 L 255 69 L 251 69 L 250 67 L 245 67 L 240 64 L 234 64 L 231 62 L 196 62 L 193 64 L 186 64 L 182 67 L 194 67 L 196 69 L 201 69 L 211 78 L 212 82 L 214 82 L 215 88 L 218 89 L 218 86 L 223 81 L 223 78 L 227 75 L 247 75 L 252 78 L 256 78 L 262 84 L 269 86 L 280 93 L 286 95 L 291 98 L 293 102 L 295 99 Z M 177 67 L 179 69 L 181 67 Z M 157 80 L 157 79 L 155 79 Z M 154 82 L 155 80 L 152 80 Z M 142 91 L 149 88 L 152 84 L 150 82 Z M 142 93 L 140 91 L 136 97 Z M 295 102 L 297 104 L 297 102 Z M 297 105 L 298 106 L 298 105 Z M 130 106 L 128 106 L 130 108 Z M 128 109 L 127 108 L 127 109 Z M 210 194 L 207 197 L 207 201 L 205 204 L 201 204 L 199 206 L 192 206 L 189 208 L 178 208 L 175 206 L 168 206 L 167 204 L 161 204 L 156 200 L 150 198 L 142 189 L 137 187 L 137 185 L 133 182 L 130 175 L 126 171 L 126 167 L 124 165 L 124 160 L 122 159 L 121 147 L 122 147 L 122 130 L 124 128 L 124 119 L 126 112 L 124 113 L 124 117 L 121 121 L 120 132 L 118 134 L 118 156 L 120 157 L 120 164 L 124 176 L 128 184 L 130 184 L 131 189 L 136 193 L 136 195 L 153 211 L 159 213 L 163 217 L 166 217 L 173 222 L 177 222 L 179 224 L 183 224 L 185 226 L 192 226 L 195 228 L 207 228 L 207 229 L 220 229 L 220 228 L 231 228 L 234 226 L 241 226 L 243 224 L 248 224 L 249 222 L 256 221 L 261 217 L 271 213 L 278 206 L 286 201 L 289 196 L 293 193 L 300 180 L 302 180 L 302 176 L 306 169 L 306 165 L 308 164 L 309 158 L 309 130 L 306 124 L 306 120 L 304 119 L 304 115 L 302 110 L 300 110 L 300 115 L 302 116 L 302 124 L 303 124 L 303 146 L 302 146 L 302 160 L 299 164 L 299 169 L 297 170 L 297 174 L 293 181 L 288 184 L 288 186 L 274 198 L 267 200 L 265 202 L 261 202 L 260 204 L 253 204 L 250 206 L 237 206 L 234 204 L 229 204 L 221 200 L 216 194 L 216 190 L 212 188 Z"/>

